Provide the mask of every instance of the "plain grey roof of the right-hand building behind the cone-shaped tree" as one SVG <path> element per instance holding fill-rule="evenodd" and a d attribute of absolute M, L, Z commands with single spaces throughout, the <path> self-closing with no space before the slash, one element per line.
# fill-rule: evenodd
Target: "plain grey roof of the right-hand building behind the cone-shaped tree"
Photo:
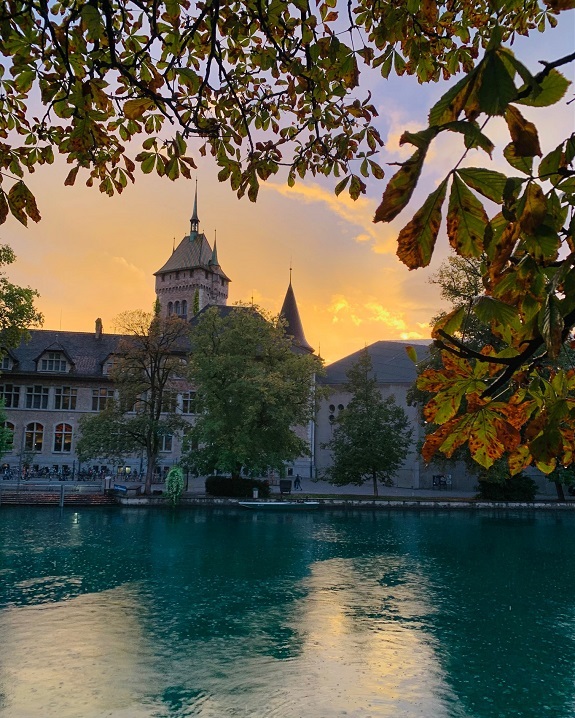
<path fill-rule="evenodd" d="M 373 364 L 373 374 L 380 384 L 411 384 L 417 376 L 416 366 L 407 356 L 405 348 L 413 346 L 418 359 L 425 359 L 429 350 L 427 345 L 411 344 L 400 341 L 381 341 L 367 347 Z M 363 349 L 326 367 L 322 384 L 345 384 L 347 372 L 357 362 Z"/>

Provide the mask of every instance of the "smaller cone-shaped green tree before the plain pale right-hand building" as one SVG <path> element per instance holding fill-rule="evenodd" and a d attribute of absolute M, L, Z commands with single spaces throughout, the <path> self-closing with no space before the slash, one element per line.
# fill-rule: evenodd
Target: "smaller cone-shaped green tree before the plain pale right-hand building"
<path fill-rule="evenodd" d="M 395 397 L 381 396 L 367 349 L 350 367 L 347 378 L 346 391 L 352 398 L 335 419 L 333 438 L 325 446 L 333 457 L 328 481 L 336 486 L 361 486 L 372 481 L 377 496 L 378 482 L 392 486 L 407 457 L 413 432 Z"/>

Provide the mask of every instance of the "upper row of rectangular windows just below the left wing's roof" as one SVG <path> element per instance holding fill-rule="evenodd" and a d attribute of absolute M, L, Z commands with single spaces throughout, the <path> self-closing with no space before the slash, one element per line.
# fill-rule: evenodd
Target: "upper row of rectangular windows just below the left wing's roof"
<path fill-rule="evenodd" d="M 25 392 L 22 392 L 25 389 Z M 195 414 L 195 398 L 193 391 L 180 394 L 182 414 Z M 175 411 L 177 394 L 166 394 L 164 411 Z M 103 411 L 114 398 L 114 390 L 108 388 L 92 389 L 92 411 Z M 0 384 L 0 399 L 4 400 L 7 409 L 48 409 L 50 387 L 35 384 L 22 387 L 16 384 Z M 76 411 L 78 389 L 71 386 L 54 387 L 52 408 L 59 411 Z"/>

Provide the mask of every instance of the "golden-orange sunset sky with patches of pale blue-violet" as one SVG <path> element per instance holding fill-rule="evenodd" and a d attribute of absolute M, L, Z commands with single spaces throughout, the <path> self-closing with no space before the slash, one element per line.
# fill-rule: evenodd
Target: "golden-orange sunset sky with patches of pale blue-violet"
<path fill-rule="evenodd" d="M 554 31 L 535 35 L 514 48 L 533 71 L 537 60 L 552 60 L 572 52 L 574 13 L 564 13 Z M 573 68 L 563 70 L 573 79 Z M 213 244 L 217 231 L 218 259 L 232 280 L 229 303 L 253 301 L 279 312 L 290 279 L 308 342 L 327 363 L 380 340 L 424 340 L 429 320 L 443 306 L 439 288 L 429 282 L 448 256 L 440 236 L 429 268 L 409 271 L 395 256 L 396 237 L 425 196 L 443 179 L 461 154 L 457 140 L 434 143 L 422 186 L 399 218 L 390 225 L 372 218 L 386 181 L 395 169 L 386 163 L 406 159 L 413 148 L 400 148 L 406 129 L 426 126 L 429 107 L 447 83 L 421 86 L 413 78 L 373 81 L 377 126 L 385 141 L 379 162 L 383 181 L 370 180 L 367 196 L 353 202 L 336 197 L 335 179 L 306 178 L 289 188 L 281 179 L 262 185 L 257 203 L 238 200 L 229 184 L 217 180 L 209 158 L 194 154 L 198 169 L 200 229 Z M 569 97 L 572 97 L 572 90 Z M 569 99 L 569 98 L 566 98 Z M 573 130 L 574 105 L 566 102 L 541 125 L 543 151 L 555 147 Z M 524 108 L 540 127 L 544 111 Z M 487 134 L 505 144 L 503 123 Z M 482 154 L 479 162 L 509 173 L 508 165 Z M 135 185 L 122 195 L 107 197 L 87 188 L 79 175 L 74 187 L 64 187 L 69 166 L 57 158 L 26 179 L 36 194 L 42 220 L 22 227 L 15 219 L 0 226 L 0 243 L 10 244 L 17 262 L 7 270 L 16 284 L 38 290 L 38 308 L 45 329 L 93 331 L 102 318 L 104 331 L 114 331 L 114 318 L 125 310 L 152 308 L 153 273 L 171 254 L 174 241 L 189 232 L 193 181 L 137 173 Z"/>

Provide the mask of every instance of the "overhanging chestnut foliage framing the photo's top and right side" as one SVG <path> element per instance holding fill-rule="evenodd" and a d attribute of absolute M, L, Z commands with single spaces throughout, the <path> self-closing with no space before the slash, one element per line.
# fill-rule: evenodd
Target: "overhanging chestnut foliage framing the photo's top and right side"
<path fill-rule="evenodd" d="M 544 119 L 563 101 L 569 82 L 558 68 L 575 53 L 542 60 L 537 72 L 511 46 L 573 7 L 575 0 L 13 0 L 1 15 L 0 172 L 14 184 L 0 188 L 0 222 L 9 212 L 39 220 L 23 177 L 52 162 L 54 147 L 72 165 L 66 184 L 82 171 L 108 194 L 133 181 L 136 163 L 172 180 L 189 176 L 188 145 L 200 138 L 197 152 L 212 155 L 219 179 L 239 196 L 255 201 L 260 182 L 285 169 L 290 185 L 309 172 L 343 175 L 336 194 L 347 188 L 357 198 L 366 178 L 383 177 L 371 71 L 420 82 L 461 73 L 431 108 L 428 127 L 403 134 L 415 151 L 374 218 L 390 222 L 407 208 L 438 137 L 461 142 L 453 168 L 399 232 L 398 256 L 410 269 L 429 264 L 449 192 L 449 241 L 461 257 L 485 257 L 473 311 L 502 348 L 478 352 L 459 341 L 464 311 L 436 325 L 444 368 L 428 377 L 437 394 L 428 413 L 440 428 L 424 457 L 467 443 L 484 467 L 507 454 L 513 473 L 531 463 L 550 472 L 556 457 L 570 464 L 575 449 L 575 374 L 559 370 L 548 381 L 538 372 L 575 325 L 575 137 L 558 138 L 541 157 L 537 127 L 523 112 Z M 495 152 L 487 134 L 494 118 L 509 133 L 508 173 L 481 160 L 468 165 L 472 152 Z"/>

